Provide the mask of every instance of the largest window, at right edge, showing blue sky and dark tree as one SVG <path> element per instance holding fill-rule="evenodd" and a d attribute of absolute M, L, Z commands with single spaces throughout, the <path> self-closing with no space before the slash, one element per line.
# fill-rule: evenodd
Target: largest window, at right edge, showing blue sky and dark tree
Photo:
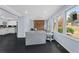
<path fill-rule="evenodd" d="M 67 35 L 79 38 L 79 6 L 66 11 Z"/>

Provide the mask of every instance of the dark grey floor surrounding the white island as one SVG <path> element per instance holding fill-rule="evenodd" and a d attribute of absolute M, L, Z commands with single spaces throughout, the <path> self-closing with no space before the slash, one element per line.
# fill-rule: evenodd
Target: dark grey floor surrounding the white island
<path fill-rule="evenodd" d="M 68 51 L 56 41 L 25 46 L 25 39 L 18 39 L 16 34 L 8 34 L 0 36 L 0 53 L 68 53 Z"/>

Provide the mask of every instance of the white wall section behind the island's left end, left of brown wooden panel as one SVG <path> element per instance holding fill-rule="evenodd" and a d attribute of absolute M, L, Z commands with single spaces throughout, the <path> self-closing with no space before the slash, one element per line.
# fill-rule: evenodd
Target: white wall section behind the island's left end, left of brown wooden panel
<path fill-rule="evenodd" d="M 22 16 L 18 20 L 18 38 L 26 37 L 26 32 L 29 32 L 31 29 L 31 20 L 28 16 Z"/>

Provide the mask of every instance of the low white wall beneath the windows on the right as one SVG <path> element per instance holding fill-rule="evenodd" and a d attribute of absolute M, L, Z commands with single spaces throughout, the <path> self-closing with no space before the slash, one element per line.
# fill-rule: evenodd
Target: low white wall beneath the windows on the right
<path fill-rule="evenodd" d="M 72 53 L 79 53 L 78 39 L 69 37 L 61 33 L 54 33 L 54 39 L 61 44 L 65 49 Z"/>

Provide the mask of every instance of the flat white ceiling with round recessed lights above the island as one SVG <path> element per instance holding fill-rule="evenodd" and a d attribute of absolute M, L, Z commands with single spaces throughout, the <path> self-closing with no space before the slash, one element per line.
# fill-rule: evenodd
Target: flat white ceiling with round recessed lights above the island
<path fill-rule="evenodd" d="M 63 5 L 8 5 L 22 16 L 28 15 L 31 19 L 48 19 Z"/>

